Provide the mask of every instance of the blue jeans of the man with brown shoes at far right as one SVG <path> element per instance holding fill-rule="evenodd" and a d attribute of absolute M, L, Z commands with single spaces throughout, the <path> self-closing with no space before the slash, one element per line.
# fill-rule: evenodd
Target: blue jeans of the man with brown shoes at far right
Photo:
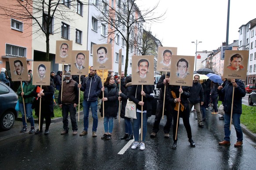
<path fill-rule="evenodd" d="M 226 114 L 224 116 L 224 132 L 225 132 L 225 141 L 230 141 L 230 130 L 229 130 L 229 126 L 230 126 L 230 114 Z M 232 114 L 232 120 L 233 120 L 233 124 L 237 133 L 237 140 L 238 141 L 243 141 L 243 132 L 240 126 L 240 117 L 241 114 L 238 113 L 233 113 Z"/>

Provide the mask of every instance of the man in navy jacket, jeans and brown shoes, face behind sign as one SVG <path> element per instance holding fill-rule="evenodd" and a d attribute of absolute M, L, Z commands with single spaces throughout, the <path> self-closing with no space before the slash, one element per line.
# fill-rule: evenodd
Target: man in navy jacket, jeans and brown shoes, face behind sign
<path fill-rule="evenodd" d="M 230 121 L 231 121 L 231 106 L 232 98 L 234 92 L 234 101 L 233 101 L 233 113 L 232 120 L 234 128 L 237 134 L 237 142 L 234 146 L 239 147 L 243 144 L 243 132 L 240 126 L 240 117 L 242 113 L 242 98 L 245 96 L 245 85 L 241 80 L 228 78 L 228 84 L 223 88 L 222 86 L 218 87 L 219 94 L 224 95 L 224 132 L 225 137 L 222 142 L 219 142 L 219 145 L 230 145 Z M 234 90 L 233 90 L 234 89 Z"/>

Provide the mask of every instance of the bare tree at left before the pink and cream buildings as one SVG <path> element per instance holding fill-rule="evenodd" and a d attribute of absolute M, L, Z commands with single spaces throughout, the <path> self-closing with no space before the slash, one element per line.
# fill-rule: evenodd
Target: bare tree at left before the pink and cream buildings
<path fill-rule="evenodd" d="M 6 4 L 0 2 L 0 10 L 4 11 L 2 18 L 31 20 L 28 22 L 29 26 L 36 28 L 31 34 L 44 35 L 47 61 L 49 61 L 50 36 L 61 31 L 60 28 L 53 30 L 53 18 L 71 21 L 70 14 L 74 13 L 76 6 L 77 0 L 8 0 Z M 70 10 L 67 10 L 67 7 Z"/>

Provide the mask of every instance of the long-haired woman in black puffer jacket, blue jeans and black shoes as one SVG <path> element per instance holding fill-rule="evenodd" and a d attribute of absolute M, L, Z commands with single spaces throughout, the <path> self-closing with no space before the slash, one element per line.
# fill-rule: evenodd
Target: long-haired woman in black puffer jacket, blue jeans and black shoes
<path fill-rule="evenodd" d="M 104 97 L 103 93 L 104 92 Z M 102 98 L 103 97 L 103 98 Z M 118 100 L 118 89 L 115 84 L 115 78 L 110 75 L 106 78 L 104 87 L 101 89 L 99 98 L 102 98 L 100 113 L 103 117 L 103 101 L 104 101 L 104 130 L 105 134 L 101 137 L 102 139 L 111 139 L 113 132 L 113 118 L 117 114 L 117 100 Z"/>

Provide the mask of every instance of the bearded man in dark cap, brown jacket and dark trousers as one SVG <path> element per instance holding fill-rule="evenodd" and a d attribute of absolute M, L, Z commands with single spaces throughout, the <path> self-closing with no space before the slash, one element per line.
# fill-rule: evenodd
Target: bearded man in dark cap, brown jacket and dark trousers
<path fill-rule="evenodd" d="M 77 105 L 79 102 L 79 90 L 77 88 L 77 82 L 71 78 L 70 72 L 66 72 L 65 74 L 66 81 L 63 81 L 63 89 L 60 87 L 58 103 L 62 108 L 62 116 L 63 116 L 63 131 L 60 135 L 65 135 L 69 132 L 69 121 L 68 116 L 70 115 L 70 120 L 72 124 L 73 135 L 77 135 Z M 62 99 L 61 99 L 62 93 Z"/>

